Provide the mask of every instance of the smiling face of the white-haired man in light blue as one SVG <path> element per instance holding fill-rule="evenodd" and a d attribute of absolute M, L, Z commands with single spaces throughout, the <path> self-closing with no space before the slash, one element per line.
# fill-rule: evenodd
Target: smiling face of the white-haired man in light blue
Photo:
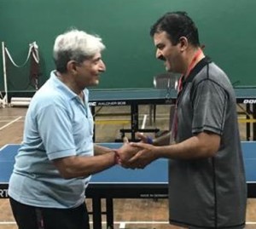
<path fill-rule="evenodd" d="M 98 85 L 100 73 L 106 71 L 106 66 L 102 61 L 102 54 L 97 53 L 92 58 L 79 63 L 76 70 L 76 80 L 81 89 Z"/>

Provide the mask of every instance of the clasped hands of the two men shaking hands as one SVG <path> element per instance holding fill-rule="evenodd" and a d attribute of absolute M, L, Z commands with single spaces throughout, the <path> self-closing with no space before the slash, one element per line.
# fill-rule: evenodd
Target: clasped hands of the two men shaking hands
<path fill-rule="evenodd" d="M 143 169 L 157 159 L 156 146 L 152 140 L 137 133 L 140 142 L 129 142 L 124 138 L 124 144 L 116 150 L 117 163 L 126 169 Z"/>

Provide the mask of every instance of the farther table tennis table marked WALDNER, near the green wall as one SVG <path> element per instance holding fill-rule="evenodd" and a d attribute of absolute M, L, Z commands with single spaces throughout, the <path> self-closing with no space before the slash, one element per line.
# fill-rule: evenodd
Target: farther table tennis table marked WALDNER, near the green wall
<path fill-rule="evenodd" d="M 34 93 L 35 91 L 9 91 L 9 97 L 32 97 Z M 246 106 L 247 119 L 252 117 L 256 119 L 256 88 L 253 86 L 236 87 L 235 93 L 236 103 Z M 159 130 L 139 129 L 139 106 L 175 104 L 176 98 L 175 89 L 90 89 L 89 104 L 94 117 L 97 116 L 96 106 L 130 106 L 131 129 L 120 129 L 120 132 L 123 135 L 131 133 L 131 140 L 136 140 L 137 131 L 154 133 Z M 253 123 L 252 129 L 253 131 L 251 131 L 250 123 L 247 123 L 247 140 L 256 140 L 256 123 Z"/>

